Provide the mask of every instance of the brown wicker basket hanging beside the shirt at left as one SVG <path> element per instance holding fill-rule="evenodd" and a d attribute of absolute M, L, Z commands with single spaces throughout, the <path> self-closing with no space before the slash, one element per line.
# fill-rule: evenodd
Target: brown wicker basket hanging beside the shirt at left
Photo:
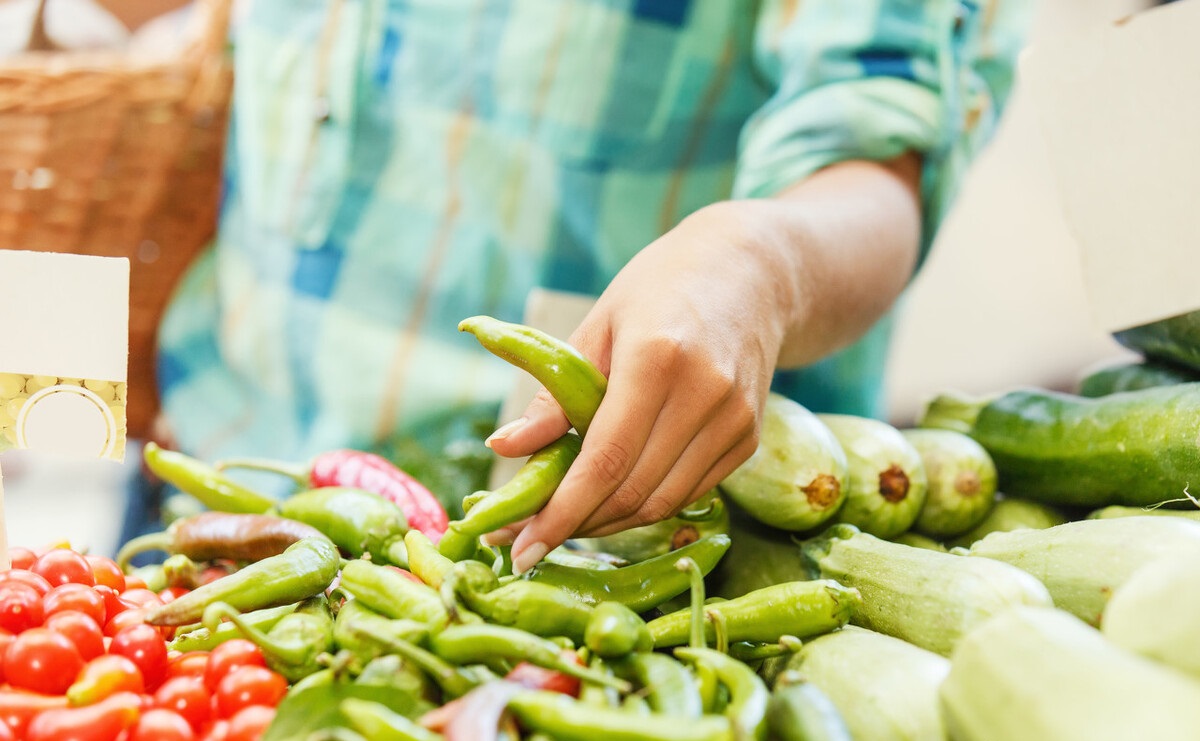
<path fill-rule="evenodd" d="M 0 248 L 126 257 L 128 434 L 157 412 L 156 332 L 216 230 L 233 88 L 230 0 L 196 0 L 198 32 L 154 62 L 120 52 L 0 59 Z"/>

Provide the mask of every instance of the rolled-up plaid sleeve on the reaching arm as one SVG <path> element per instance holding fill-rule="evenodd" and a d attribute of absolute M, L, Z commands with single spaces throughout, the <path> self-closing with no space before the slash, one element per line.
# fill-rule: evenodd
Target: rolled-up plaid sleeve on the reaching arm
<path fill-rule="evenodd" d="M 924 255 L 995 131 L 1031 14 L 1032 0 L 766 0 L 755 64 L 772 94 L 742 132 L 734 195 L 914 151 Z"/>

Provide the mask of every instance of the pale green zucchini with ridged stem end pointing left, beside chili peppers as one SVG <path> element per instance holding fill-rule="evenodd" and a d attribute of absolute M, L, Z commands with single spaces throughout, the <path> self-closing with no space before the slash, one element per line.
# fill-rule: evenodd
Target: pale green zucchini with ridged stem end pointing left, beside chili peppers
<path fill-rule="evenodd" d="M 996 613 L 1052 604 L 1045 586 L 1008 564 L 912 548 L 852 525 L 833 525 L 802 549 L 822 579 L 862 594 L 852 623 L 943 656 Z"/>

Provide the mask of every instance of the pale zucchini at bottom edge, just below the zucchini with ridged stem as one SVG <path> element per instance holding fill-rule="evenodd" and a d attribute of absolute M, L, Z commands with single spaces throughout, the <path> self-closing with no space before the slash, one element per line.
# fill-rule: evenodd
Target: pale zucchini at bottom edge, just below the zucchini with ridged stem
<path fill-rule="evenodd" d="M 806 643 L 787 662 L 829 698 L 852 739 L 942 741 L 938 688 L 949 669 L 936 653 L 854 626 Z"/>

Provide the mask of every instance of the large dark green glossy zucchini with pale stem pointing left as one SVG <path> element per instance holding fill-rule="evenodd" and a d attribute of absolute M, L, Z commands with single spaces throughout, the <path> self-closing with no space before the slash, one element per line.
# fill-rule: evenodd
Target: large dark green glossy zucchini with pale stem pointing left
<path fill-rule="evenodd" d="M 991 400 L 935 398 L 922 427 L 966 427 L 1007 494 L 1052 505 L 1145 506 L 1200 481 L 1200 384 L 1088 399 L 1027 388 Z"/>

